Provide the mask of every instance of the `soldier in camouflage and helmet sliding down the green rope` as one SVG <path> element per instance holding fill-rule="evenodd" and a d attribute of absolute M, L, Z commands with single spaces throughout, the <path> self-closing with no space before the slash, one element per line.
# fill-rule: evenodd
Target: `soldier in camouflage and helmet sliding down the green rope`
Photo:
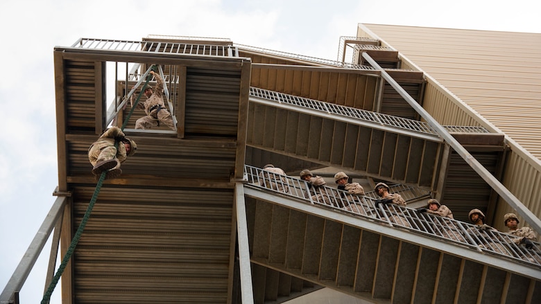
<path fill-rule="evenodd" d="M 105 179 L 119 177 L 122 173 L 120 164 L 136 150 L 135 141 L 126 138 L 119 127 L 110 127 L 88 149 L 88 160 L 94 166 L 92 174 L 99 177 L 101 172 L 107 171 Z"/>

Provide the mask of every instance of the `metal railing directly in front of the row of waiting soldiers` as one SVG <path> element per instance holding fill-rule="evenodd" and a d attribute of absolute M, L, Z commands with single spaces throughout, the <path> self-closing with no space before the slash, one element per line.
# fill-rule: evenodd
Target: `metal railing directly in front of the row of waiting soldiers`
<path fill-rule="evenodd" d="M 370 221 L 388 226 L 400 227 L 413 233 L 445 240 L 469 247 L 472 250 L 488 252 L 496 256 L 541 267 L 540 244 L 534 242 L 533 249 L 516 244 L 517 237 L 499 231 L 440 217 L 420 213 L 416 209 L 397 204 L 377 204 L 374 191 L 366 195 L 351 195 L 343 190 L 328 186 L 310 187 L 307 181 L 286 175 L 268 172 L 253 166 L 244 166 L 248 184 L 246 186 L 286 195 L 302 202 L 331 208 L 341 213 L 350 213 Z M 390 189 L 394 193 L 394 188 Z"/>

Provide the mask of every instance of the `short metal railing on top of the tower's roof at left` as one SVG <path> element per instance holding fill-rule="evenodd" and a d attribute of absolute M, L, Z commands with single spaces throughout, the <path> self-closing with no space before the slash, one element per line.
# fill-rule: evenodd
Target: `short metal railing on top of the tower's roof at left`
<path fill-rule="evenodd" d="M 176 55 L 238 57 L 238 51 L 235 49 L 235 46 L 186 44 L 179 42 L 140 42 L 130 40 L 80 38 L 71 47 L 103 51 L 132 51 L 144 53 L 169 53 Z"/>

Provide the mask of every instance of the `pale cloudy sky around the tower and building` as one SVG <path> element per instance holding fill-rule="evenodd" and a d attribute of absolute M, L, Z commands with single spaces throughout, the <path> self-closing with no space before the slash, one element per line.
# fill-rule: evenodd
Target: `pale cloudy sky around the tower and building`
<path fill-rule="evenodd" d="M 80 37 L 224 37 L 336 60 L 340 36 L 354 36 L 359 23 L 541 33 L 538 0 L 6 2 L 0 10 L 6 127 L 0 135 L 0 291 L 55 200 L 54 46 Z M 42 300 L 49 242 L 21 291 L 22 303 Z M 60 303 L 60 284 L 51 303 Z"/>

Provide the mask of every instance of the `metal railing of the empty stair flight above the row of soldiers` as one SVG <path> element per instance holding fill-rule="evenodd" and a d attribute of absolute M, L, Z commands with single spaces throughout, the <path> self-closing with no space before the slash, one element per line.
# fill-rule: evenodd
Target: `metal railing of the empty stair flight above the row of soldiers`
<path fill-rule="evenodd" d="M 408 132 L 415 132 L 418 134 L 426 134 L 429 136 L 436 136 L 439 138 L 435 129 L 430 127 L 428 123 L 423 123 L 418 120 L 412 120 L 408 118 L 402 118 L 398 116 L 390 116 L 387 114 L 381 114 L 372 111 L 366 111 L 363 109 L 356 109 L 353 107 L 346 107 L 343 105 L 336 105 L 334 103 L 323 102 L 319 100 L 302 98 L 289 94 L 279 93 L 276 91 L 269 91 L 266 89 L 259 89 L 257 87 L 250 87 L 250 97 L 262 98 L 271 102 L 277 102 L 279 104 L 291 105 L 294 107 L 302 107 L 304 109 L 310 109 L 314 111 L 320 111 L 325 114 L 333 114 L 337 116 L 344 116 L 354 120 L 360 120 L 366 123 L 393 127 L 398 129 L 404 129 Z M 457 127 L 457 126 L 444 126 L 449 132 L 475 132 L 475 133 L 488 133 L 483 127 Z"/>

